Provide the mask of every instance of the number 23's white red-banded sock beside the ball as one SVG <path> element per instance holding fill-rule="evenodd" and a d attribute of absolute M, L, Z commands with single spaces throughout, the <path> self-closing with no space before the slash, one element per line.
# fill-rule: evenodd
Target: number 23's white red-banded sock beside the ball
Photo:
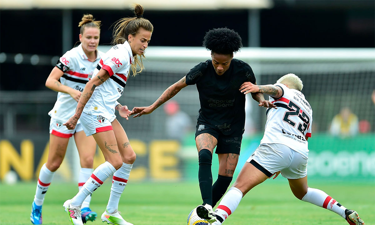
<path fill-rule="evenodd" d="M 221 199 L 219 206 L 215 210 L 216 222 L 215 224 L 221 224 L 230 214 L 236 210 L 238 204 L 242 199 L 242 192 L 237 187 L 231 187 L 228 192 Z M 222 221 L 220 221 L 222 219 Z"/>

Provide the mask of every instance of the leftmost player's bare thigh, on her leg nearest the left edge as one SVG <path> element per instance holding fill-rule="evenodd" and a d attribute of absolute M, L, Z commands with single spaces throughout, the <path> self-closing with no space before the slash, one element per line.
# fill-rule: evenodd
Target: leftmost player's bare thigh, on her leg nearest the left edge
<path fill-rule="evenodd" d="M 46 167 L 54 172 L 64 160 L 66 148 L 68 147 L 69 138 L 62 138 L 49 134 L 49 150 Z"/>

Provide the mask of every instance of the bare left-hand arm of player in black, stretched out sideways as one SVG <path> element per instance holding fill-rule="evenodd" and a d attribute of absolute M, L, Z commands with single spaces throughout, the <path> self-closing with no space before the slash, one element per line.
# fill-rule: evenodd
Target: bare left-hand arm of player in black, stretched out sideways
<path fill-rule="evenodd" d="M 133 115 L 133 117 L 139 117 L 144 114 L 150 114 L 154 110 L 157 109 L 160 105 L 162 105 L 164 102 L 171 99 L 173 96 L 175 96 L 181 89 L 186 87 L 186 76 L 181 78 L 181 80 L 177 81 L 176 83 L 169 86 L 162 95 L 160 95 L 159 99 L 157 99 L 152 105 L 148 107 L 134 107 L 132 112 L 129 114 Z"/>

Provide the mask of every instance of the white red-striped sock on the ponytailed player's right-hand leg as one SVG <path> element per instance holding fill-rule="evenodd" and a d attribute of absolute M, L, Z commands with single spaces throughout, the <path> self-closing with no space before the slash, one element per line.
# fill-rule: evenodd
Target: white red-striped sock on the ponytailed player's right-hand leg
<path fill-rule="evenodd" d="M 133 164 L 123 162 L 121 168 L 113 174 L 111 195 L 107 204 L 108 213 L 115 213 L 117 211 L 121 193 L 124 192 L 132 167 Z"/>

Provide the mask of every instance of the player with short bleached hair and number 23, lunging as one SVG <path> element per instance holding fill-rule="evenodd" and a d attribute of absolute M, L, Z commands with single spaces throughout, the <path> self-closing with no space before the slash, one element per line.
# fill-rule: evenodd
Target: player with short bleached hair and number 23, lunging
<path fill-rule="evenodd" d="M 234 210 L 242 197 L 253 187 L 281 172 L 289 181 L 298 199 L 326 208 L 342 216 L 350 225 L 363 225 L 354 210 L 345 208 L 331 196 L 307 183 L 308 138 L 311 137 L 312 109 L 302 94 L 299 77 L 287 74 L 273 85 L 254 85 L 245 82 L 241 92 L 264 93 L 270 96 L 277 109 L 267 109 L 266 128 L 259 147 L 255 150 L 215 210 L 220 225 Z M 285 218 L 288 223 L 293 217 Z"/>

